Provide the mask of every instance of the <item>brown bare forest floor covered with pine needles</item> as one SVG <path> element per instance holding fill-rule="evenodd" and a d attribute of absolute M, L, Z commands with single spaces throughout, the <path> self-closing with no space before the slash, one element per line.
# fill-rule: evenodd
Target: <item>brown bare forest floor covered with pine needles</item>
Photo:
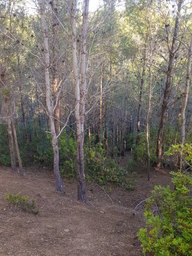
<path fill-rule="evenodd" d="M 126 162 L 125 157 L 120 164 Z M 88 183 L 90 205 L 85 205 L 76 200 L 75 181 L 63 181 L 67 195 L 61 196 L 51 172 L 26 168 L 20 177 L 0 167 L 0 255 L 142 255 L 137 231 L 145 223 L 143 203 L 135 206 L 150 196 L 154 185 L 168 185 L 170 176 L 154 170 L 149 182 L 142 168 L 137 171 L 134 191 Z M 9 207 L 7 193 L 29 195 L 39 214 Z"/>

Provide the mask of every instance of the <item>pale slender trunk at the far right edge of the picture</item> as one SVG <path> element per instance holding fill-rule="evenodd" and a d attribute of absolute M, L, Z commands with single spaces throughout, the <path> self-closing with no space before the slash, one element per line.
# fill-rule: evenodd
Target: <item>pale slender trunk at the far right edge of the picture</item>
<path fill-rule="evenodd" d="M 183 165 L 183 145 L 185 143 L 185 111 L 187 107 L 187 101 L 189 96 L 189 86 L 190 86 L 190 79 L 191 79 L 191 63 L 192 63 L 192 36 L 191 36 L 191 43 L 189 46 L 189 52 L 188 52 L 188 61 L 187 61 L 187 74 L 186 74 L 186 82 L 185 82 L 185 89 L 183 93 L 183 105 L 181 108 L 181 156 L 179 158 L 179 168 L 182 169 Z"/>

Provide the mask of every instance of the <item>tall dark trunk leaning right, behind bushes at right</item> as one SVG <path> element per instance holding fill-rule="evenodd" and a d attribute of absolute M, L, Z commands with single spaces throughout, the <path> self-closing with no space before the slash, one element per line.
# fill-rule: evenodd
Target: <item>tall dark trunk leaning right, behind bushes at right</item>
<path fill-rule="evenodd" d="M 177 37 L 179 34 L 179 16 L 181 14 L 182 3 L 183 3 L 183 0 L 178 1 L 177 17 L 176 17 L 175 24 L 174 24 L 174 34 L 172 37 L 172 46 L 171 46 L 170 53 L 169 53 L 168 69 L 166 72 L 166 85 L 165 85 L 165 89 L 164 89 L 160 126 L 159 126 L 159 130 L 158 130 L 157 150 L 156 150 L 156 155 L 158 157 L 158 164 L 157 164 L 158 167 L 160 167 L 161 159 L 162 159 L 163 131 L 164 131 L 164 125 L 165 125 L 167 113 L 168 113 L 168 98 L 170 96 L 174 57 L 177 53 Z"/>

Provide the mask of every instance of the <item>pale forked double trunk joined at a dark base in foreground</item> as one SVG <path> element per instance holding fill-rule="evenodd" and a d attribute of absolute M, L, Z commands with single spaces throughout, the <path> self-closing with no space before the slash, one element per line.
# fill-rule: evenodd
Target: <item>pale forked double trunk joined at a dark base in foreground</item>
<path fill-rule="evenodd" d="M 71 5 L 72 15 L 72 55 L 75 87 L 75 121 L 77 131 L 77 199 L 86 203 L 86 174 L 84 159 L 84 120 L 86 110 L 86 38 L 88 32 L 89 0 L 84 0 L 84 13 L 82 23 L 80 67 L 77 63 L 77 36 L 76 36 L 76 1 Z M 79 73 L 80 69 L 80 73 Z M 81 81 L 79 81 L 79 76 Z"/>

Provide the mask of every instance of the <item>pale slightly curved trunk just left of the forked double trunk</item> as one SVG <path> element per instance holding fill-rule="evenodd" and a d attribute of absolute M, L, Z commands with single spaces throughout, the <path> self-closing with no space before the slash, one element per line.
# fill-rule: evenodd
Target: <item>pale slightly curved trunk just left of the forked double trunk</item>
<path fill-rule="evenodd" d="M 39 6 L 40 6 L 40 22 L 41 22 L 43 42 L 44 42 L 46 110 L 49 115 L 49 125 L 51 127 L 51 137 L 52 137 L 53 157 L 54 157 L 53 169 L 54 169 L 55 177 L 56 177 L 57 190 L 60 193 L 64 193 L 63 183 L 62 183 L 61 175 L 59 172 L 59 147 L 58 147 L 57 134 L 55 131 L 53 106 L 52 106 L 52 102 L 51 102 L 49 33 L 48 33 L 47 25 L 46 25 L 46 20 L 44 17 L 44 0 L 39 0 Z"/>

